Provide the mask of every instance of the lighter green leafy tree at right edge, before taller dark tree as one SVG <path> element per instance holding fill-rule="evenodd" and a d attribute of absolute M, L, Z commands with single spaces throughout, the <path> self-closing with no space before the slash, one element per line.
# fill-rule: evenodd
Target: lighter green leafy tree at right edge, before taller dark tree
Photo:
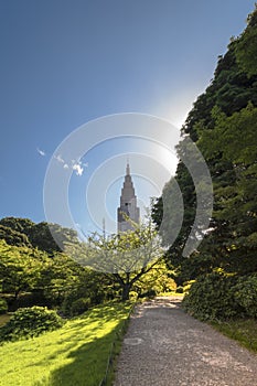
<path fill-rule="evenodd" d="M 215 128 L 203 132 L 199 143 L 206 160 L 218 152 L 224 163 L 231 162 L 234 178 L 227 179 L 224 172 L 214 179 L 216 224 L 201 250 L 218 251 L 224 257 L 219 265 L 226 270 L 246 274 L 257 269 L 257 108 L 249 104 L 231 117 L 215 114 Z"/>

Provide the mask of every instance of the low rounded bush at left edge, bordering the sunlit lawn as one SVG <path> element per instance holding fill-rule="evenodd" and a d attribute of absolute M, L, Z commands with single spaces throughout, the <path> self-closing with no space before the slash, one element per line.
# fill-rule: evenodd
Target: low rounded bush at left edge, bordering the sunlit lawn
<path fill-rule="evenodd" d="M 9 322 L 0 329 L 0 341 L 29 339 L 62 325 L 62 318 L 53 310 L 36 305 L 23 308 L 15 311 Z"/>

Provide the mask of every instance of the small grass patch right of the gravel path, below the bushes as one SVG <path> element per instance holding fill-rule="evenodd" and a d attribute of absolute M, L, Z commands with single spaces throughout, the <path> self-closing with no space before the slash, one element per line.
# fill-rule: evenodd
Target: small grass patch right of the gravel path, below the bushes
<path fill-rule="evenodd" d="M 242 346 L 257 353 L 257 320 L 213 321 L 211 324 L 224 335 L 237 341 Z"/>

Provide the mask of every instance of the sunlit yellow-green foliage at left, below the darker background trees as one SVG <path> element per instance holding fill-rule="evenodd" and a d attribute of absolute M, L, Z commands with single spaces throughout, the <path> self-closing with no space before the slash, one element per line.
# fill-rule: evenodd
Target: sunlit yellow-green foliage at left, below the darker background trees
<path fill-rule="evenodd" d="M 50 257 L 39 249 L 0 240 L 0 291 L 9 294 L 12 311 L 29 305 L 61 307 L 65 299 L 72 304 L 79 298 L 88 298 L 95 305 L 115 298 L 113 287 L 110 278 L 82 267 L 64 254 Z M 71 314 L 71 307 L 65 304 L 65 314 Z"/>

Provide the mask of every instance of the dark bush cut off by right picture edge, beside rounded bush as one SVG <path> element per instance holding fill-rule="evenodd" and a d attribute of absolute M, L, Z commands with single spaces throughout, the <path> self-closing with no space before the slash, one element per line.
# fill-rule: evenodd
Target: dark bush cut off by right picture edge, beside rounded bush
<path fill-rule="evenodd" d="M 242 277 L 233 287 L 233 291 L 246 317 L 257 318 L 257 276 Z"/>

